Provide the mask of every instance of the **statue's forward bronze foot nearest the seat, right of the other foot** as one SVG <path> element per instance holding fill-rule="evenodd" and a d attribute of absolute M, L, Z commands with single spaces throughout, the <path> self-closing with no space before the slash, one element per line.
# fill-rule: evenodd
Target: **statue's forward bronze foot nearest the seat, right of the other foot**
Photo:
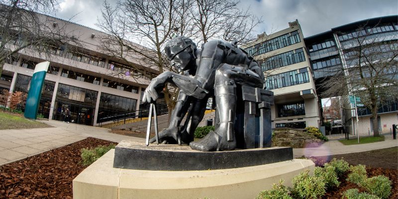
<path fill-rule="evenodd" d="M 194 150 L 198 151 L 231 151 L 236 148 L 235 136 L 233 136 L 232 141 L 227 141 L 227 131 L 222 131 L 221 129 L 226 126 L 228 122 L 222 122 L 218 128 L 217 133 L 210 131 L 206 136 L 197 142 L 191 142 L 190 146 Z M 220 131 L 221 130 L 221 131 Z M 218 135 L 221 133 L 223 136 Z"/>

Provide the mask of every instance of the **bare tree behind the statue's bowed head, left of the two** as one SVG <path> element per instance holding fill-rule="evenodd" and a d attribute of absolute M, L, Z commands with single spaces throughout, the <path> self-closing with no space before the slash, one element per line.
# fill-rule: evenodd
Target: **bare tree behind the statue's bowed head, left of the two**
<path fill-rule="evenodd" d="M 138 72 L 136 77 L 152 79 L 165 70 L 174 70 L 165 61 L 163 46 L 176 29 L 175 8 L 184 6 L 179 3 L 177 0 L 126 0 L 113 8 L 105 1 L 97 25 L 108 35 L 100 37 L 100 52 L 124 61 Z M 180 27 L 181 30 L 185 28 Z M 133 64 L 132 59 L 138 64 Z M 164 93 L 171 112 L 175 92 L 170 93 L 166 87 Z"/>

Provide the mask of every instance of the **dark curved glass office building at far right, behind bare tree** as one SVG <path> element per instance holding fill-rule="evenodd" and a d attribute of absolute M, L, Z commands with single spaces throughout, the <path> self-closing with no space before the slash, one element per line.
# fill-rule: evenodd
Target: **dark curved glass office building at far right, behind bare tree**
<path fill-rule="evenodd" d="M 356 45 L 356 38 L 365 38 L 363 41 L 367 42 L 366 45 L 372 45 L 372 42 L 375 43 L 377 41 L 378 46 L 372 47 L 372 49 L 379 51 L 380 56 L 386 56 L 392 52 L 397 54 L 397 19 L 397 15 L 365 19 L 304 38 L 317 94 L 320 95 L 324 92 L 320 87 L 323 80 L 336 75 L 337 71 L 342 71 L 341 69 L 349 69 L 358 63 L 358 57 L 352 56 L 356 53 L 352 50 Z M 380 43 L 379 41 L 383 41 L 384 43 Z M 397 57 L 395 59 L 397 60 Z M 349 73 L 350 70 L 344 71 Z M 389 75 L 392 75 L 398 81 L 397 66 L 391 72 L 392 74 Z M 347 75 L 346 73 L 340 73 L 339 75 Z M 390 132 L 392 125 L 398 123 L 397 107 L 397 98 L 379 104 L 379 118 L 377 119 L 379 120 L 379 129 L 382 132 Z M 359 132 L 362 134 L 372 134 L 373 118 L 370 110 L 360 107 L 358 109 L 358 116 Z M 345 126 L 345 130 L 351 134 L 356 132 L 357 125 L 355 117 L 354 110 L 342 111 L 343 125 Z"/>

